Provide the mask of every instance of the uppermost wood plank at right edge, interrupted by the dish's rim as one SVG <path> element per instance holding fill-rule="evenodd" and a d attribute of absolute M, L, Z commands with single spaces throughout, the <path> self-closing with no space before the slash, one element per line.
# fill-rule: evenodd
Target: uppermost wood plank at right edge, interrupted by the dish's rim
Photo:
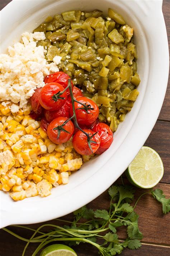
<path fill-rule="evenodd" d="M 170 49 L 170 1 L 163 0 L 162 12 L 164 14 L 166 30 L 167 30 L 167 38 L 169 41 L 169 49 Z M 169 81 L 167 85 L 167 91 L 164 99 L 164 103 L 162 105 L 162 109 L 159 115 L 160 120 L 168 120 L 170 121 L 170 74 Z"/>

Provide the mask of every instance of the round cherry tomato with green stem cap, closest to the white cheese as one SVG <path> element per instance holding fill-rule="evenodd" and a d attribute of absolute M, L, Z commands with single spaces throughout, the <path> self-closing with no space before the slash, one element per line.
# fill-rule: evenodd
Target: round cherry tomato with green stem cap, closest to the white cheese
<path fill-rule="evenodd" d="M 58 93 L 63 91 L 64 88 L 62 85 L 58 83 L 49 83 L 46 84 L 39 94 L 39 103 L 42 105 L 43 108 L 54 111 L 61 108 L 67 100 L 67 93 L 66 91 L 57 96 Z"/>

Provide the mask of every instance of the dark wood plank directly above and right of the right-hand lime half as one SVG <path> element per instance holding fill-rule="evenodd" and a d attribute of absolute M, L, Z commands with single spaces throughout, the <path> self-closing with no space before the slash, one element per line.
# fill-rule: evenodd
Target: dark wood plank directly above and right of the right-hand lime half
<path fill-rule="evenodd" d="M 157 121 L 145 146 L 160 154 L 164 164 L 164 176 L 161 182 L 170 183 L 170 122 Z"/>

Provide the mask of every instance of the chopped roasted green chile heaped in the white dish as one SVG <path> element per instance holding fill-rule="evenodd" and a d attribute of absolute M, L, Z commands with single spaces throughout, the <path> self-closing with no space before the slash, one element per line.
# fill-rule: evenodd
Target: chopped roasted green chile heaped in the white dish
<path fill-rule="evenodd" d="M 133 28 L 109 8 L 107 18 L 100 10 L 49 16 L 34 32 L 45 33 L 46 39 L 37 46 L 44 47 L 47 61 L 62 58 L 58 68 L 96 102 L 99 121 L 116 131 L 139 94 Z"/>

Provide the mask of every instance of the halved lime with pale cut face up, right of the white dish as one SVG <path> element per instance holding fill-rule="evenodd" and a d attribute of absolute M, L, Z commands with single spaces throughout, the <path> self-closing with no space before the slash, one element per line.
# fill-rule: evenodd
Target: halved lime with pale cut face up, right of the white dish
<path fill-rule="evenodd" d="M 159 154 L 142 147 L 126 170 L 128 180 L 139 188 L 153 188 L 162 179 L 164 166 Z"/>

